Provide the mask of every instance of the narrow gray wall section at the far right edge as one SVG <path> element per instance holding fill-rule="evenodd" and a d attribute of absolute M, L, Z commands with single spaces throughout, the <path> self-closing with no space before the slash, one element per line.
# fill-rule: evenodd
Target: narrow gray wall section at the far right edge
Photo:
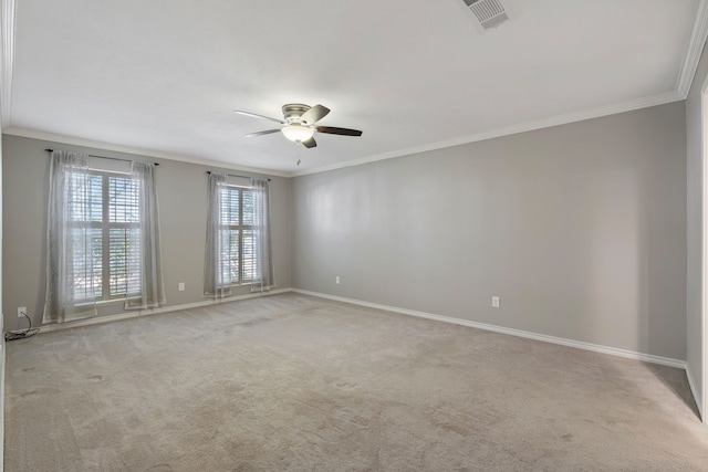
<path fill-rule="evenodd" d="M 702 333 L 706 329 L 702 322 L 702 124 L 700 88 L 708 77 L 708 56 L 705 49 L 694 76 L 694 83 L 686 99 L 686 138 L 687 138 L 687 211 L 688 211 L 688 285 L 686 295 L 686 324 L 688 375 L 694 379 L 695 395 L 698 397 L 699 408 L 705 405 L 704 391 L 705 368 L 702 358 Z M 702 405 L 701 405 L 702 403 Z M 706 411 L 702 411 L 704 420 Z"/>

